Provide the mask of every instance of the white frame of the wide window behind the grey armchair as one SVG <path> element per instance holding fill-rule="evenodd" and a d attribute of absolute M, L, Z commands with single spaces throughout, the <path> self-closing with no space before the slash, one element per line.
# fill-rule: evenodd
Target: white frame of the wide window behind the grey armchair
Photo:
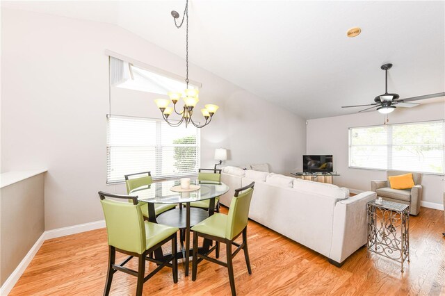
<path fill-rule="evenodd" d="M 401 123 L 395 123 L 395 124 L 375 124 L 370 126 L 350 126 L 348 127 L 348 168 L 350 169 L 358 169 L 358 170 L 374 170 L 374 171 L 382 171 L 385 172 L 387 170 L 396 170 L 391 168 L 392 165 L 392 149 L 389 149 L 392 147 L 392 128 L 389 129 L 388 133 L 388 143 L 387 143 L 387 168 L 386 169 L 379 169 L 379 168 L 373 168 L 373 167 L 357 167 L 350 165 L 351 163 L 351 130 L 353 129 L 366 129 L 366 128 L 373 128 L 373 127 L 380 127 L 380 126 L 402 126 L 402 125 L 414 125 L 414 124 L 423 124 L 423 123 L 435 123 L 440 122 L 442 123 L 442 173 L 435 173 L 435 172 L 422 172 L 422 171 L 416 171 L 421 172 L 422 174 L 432 175 L 432 176 L 445 176 L 445 120 L 425 120 L 420 122 L 401 122 Z"/>

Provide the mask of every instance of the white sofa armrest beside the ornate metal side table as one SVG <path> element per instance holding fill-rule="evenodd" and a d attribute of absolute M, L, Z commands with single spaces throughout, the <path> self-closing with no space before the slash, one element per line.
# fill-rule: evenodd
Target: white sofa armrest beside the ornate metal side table
<path fill-rule="evenodd" d="M 357 249 L 366 245 L 366 204 L 375 197 L 377 193 L 366 191 L 335 204 L 329 256 L 332 261 L 342 263 Z"/>

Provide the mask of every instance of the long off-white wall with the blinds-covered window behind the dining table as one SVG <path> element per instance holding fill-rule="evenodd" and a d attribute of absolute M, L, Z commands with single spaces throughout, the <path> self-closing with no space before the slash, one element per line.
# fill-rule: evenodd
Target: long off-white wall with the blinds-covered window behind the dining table
<path fill-rule="evenodd" d="M 182 58 L 117 26 L 1 10 L 1 172 L 48 169 L 46 230 L 102 220 L 97 191 L 124 192 L 106 186 L 105 49 L 184 74 Z M 305 120 L 194 65 L 190 74 L 202 83 L 200 106 L 220 106 L 202 129 L 202 167 L 213 167 L 216 147 L 229 149 L 227 164 L 302 167 Z M 112 113 L 160 114 L 143 97 L 117 106 Z"/>

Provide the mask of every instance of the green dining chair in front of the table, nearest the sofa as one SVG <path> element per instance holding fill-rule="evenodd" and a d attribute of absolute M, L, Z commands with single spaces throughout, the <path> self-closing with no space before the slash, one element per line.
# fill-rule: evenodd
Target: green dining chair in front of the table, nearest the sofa
<path fill-rule="evenodd" d="M 192 281 L 196 280 L 197 276 L 197 264 L 206 259 L 213 263 L 223 265 L 229 270 L 229 282 L 230 289 L 232 290 L 232 295 L 236 295 L 235 290 L 235 279 L 234 279 L 234 267 L 232 258 L 241 251 L 244 250 L 245 263 L 248 266 L 249 274 L 252 274 L 252 269 L 250 268 L 249 252 L 248 252 L 248 240 L 247 240 L 247 229 L 248 229 L 248 216 L 250 200 L 252 199 L 254 182 L 250 183 L 248 186 L 239 188 L 235 190 L 234 198 L 230 203 L 229 214 L 225 215 L 222 213 L 215 213 L 208 217 L 206 220 L 196 224 L 191 228 L 193 231 L 193 265 L 192 265 Z M 238 244 L 234 242 L 238 236 L 243 233 L 243 242 Z M 216 245 L 211 247 L 206 254 L 198 253 L 198 238 L 207 238 L 209 240 L 215 240 Z M 226 244 L 227 252 L 227 263 L 223 261 L 210 258 L 208 255 L 216 249 L 216 258 L 219 257 L 219 245 L 220 242 Z M 232 253 L 232 245 L 237 248 L 235 252 Z M 198 259 L 199 258 L 199 259 Z"/>

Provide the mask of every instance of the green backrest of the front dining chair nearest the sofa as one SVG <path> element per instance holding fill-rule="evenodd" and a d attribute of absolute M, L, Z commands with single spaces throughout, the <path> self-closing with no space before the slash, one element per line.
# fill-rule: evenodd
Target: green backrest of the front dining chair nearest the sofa
<path fill-rule="evenodd" d="M 230 203 L 229 215 L 227 217 L 227 228 L 225 238 L 232 240 L 248 224 L 250 200 L 252 200 L 253 186 L 255 182 L 248 186 L 235 190 L 234 198 Z"/>

